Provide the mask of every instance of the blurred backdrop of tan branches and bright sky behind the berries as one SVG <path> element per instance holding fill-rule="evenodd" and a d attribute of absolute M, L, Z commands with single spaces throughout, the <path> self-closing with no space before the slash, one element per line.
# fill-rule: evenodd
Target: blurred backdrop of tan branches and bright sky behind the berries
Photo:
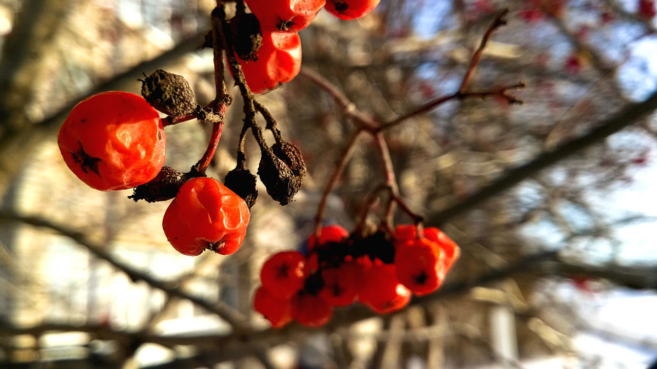
<path fill-rule="evenodd" d="M 162 231 L 168 202 L 92 190 L 57 147 L 79 100 L 139 93 L 137 79 L 158 68 L 185 76 L 201 104 L 212 100 L 212 52 L 198 47 L 213 6 L 0 0 L 1 368 L 646 368 L 657 360 L 654 1 L 382 0 L 350 22 L 321 11 L 300 32 L 303 68 L 383 121 L 457 91 L 505 8 L 509 24 L 468 89 L 527 87 L 513 91 L 523 105 L 454 100 L 386 132 L 402 196 L 461 246 L 442 290 L 392 315 L 354 305 L 323 328 L 278 331 L 252 310 L 252 293 L 267 255 L 304 247 L 355 129 L 331 97 L 303 76 L 261 96 L 309 173 L 286 207 L 260 188 L 246 240 L 228 257 L 179 255 Z M 242 109 L 234 101 L 209 172 L 218 179 L 235 165 Z M 616 129 L 605 131 L 608 123 Z M 209 127 L 166 131 L 167 165 L 186 171 Z M 255 169 L 256 144 L 248 150 Z M 329 198 L 326 223 L 351 229 L 383 181 L 366 139 Z M 246 316 L 253 331 L 235 330 L 227 312 Z"/>

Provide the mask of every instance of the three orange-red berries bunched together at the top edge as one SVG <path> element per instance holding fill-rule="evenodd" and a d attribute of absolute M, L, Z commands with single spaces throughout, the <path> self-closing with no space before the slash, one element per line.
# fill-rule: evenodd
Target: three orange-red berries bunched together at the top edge
<path fill-rule="evenodd" d="M 301 68 L 298 33 L 325 8 L 341 19 L 360 18 L 380 0 L 246 0 L 260 22 L 261 46 L 255 56 L 238 58 L 246 83 L 254 93 L 263 93 L 294 78 Z"/>

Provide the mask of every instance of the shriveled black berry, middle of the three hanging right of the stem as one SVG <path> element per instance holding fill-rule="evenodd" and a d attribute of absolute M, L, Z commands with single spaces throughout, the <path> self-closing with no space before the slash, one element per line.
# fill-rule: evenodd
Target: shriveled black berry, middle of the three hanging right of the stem
<path fill-rule="evenodd" d="M 283 206 L 290 204 L 301 188 L 301 179 L 271 150 L 262 151 L 258 175 L 267 188 L 267 194 Z"/>

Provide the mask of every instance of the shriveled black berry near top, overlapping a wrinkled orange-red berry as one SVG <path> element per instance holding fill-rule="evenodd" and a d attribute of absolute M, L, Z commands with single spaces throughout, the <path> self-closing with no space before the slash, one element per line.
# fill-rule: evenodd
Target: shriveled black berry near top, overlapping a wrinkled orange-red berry
<path fill-rule="evenodd" d="M 242 60 L 258 60 L 258 50 L 262 45 L 260 22 L 252 13 L 238 12 L 230 20 L 231 35 L 235 54 Z"/>

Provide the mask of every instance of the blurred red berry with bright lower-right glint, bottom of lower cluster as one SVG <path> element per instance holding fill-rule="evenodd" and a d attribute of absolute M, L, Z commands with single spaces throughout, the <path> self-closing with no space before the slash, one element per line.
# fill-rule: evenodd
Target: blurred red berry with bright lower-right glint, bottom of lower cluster
<path fill-rule="evenodd" d="M 365 273 L 359 299 L 376 313 L 391 313 L 411 301 L 411 291 L 397 280 L 394 264 L 377 260 Z"/>

